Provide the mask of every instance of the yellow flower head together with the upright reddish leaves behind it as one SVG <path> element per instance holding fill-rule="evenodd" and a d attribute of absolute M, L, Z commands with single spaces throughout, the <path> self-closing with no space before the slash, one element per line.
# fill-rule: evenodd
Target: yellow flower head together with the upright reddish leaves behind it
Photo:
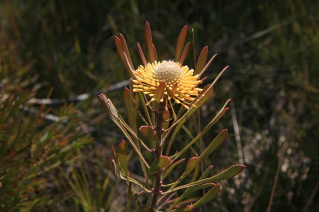
<path fill-rule="evenodd" d="M 119 37 L 115 36 L 115 45 L 119 56 L 133 78 L 133 92 L 143 92 L 143 99 L 147 105 L 154 101 L 165 102 L 165 110 L 168 110 L 168 103 L 171 108 L 174 103 L 177 103 L 186 109 L 196 104 L 194 102 L 195 98 L 202 91 L 201 88 L 198 88 L 198 85 L 203 79 L 199 79 L 199 77 L 207 70 L 216 54 L 206 64 L 208 56 L 206 46 L 201 51 L 194 70 L 189 70 L 187 66 L 183 66 L 190 46 L 190 42 L 184 46 L 187 29 L 188 26 L 185 25 L 179 33 L 174 61 L 164 60 L 160 62 L 153 44 L 150 24 L 146 21 L 145 37 L 148 57 L 146 59 L 141 45 L 137 42 L 142 60 L 142 65 L 138 69 L 134 68 L 124 36 L 122 34 Z M 150 99 L 147 99 L 147 95 Z"/>

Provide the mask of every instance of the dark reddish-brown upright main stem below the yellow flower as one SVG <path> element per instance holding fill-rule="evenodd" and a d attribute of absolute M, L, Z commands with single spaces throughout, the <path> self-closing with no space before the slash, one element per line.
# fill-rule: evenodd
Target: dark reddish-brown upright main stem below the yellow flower
<path fill-rule="evenodd" d="M 161 140 L 161 135 L 163 133 L 162 124 L 163 124 L 163 113 L 164 113 L 164 102 L 160 102 L 159 108 L 156 111 L 157 117 L 156 117 L 156 135 Z M 155 148 L 155 159 L 159 158 L 161 156 L 161 143 L 160 145 L 156 144 Z M 153 198 L 152 203 L 150 207 L 150 211 L 154 212 L 154 209 L 157 206 L 158 198 L 160 196 L 160 188 L 161 188 L 162 182 L 161 182 L 161 170 L 155 173 L 155 185 L 153 189 Z"/>

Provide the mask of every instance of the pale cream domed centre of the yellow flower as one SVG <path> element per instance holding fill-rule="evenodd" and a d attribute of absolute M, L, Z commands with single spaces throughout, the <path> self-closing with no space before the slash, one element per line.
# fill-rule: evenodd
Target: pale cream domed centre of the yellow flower
<path fill-rule="evenodd" d="M 181 76 L 181 68 L 172 61 L 163 61 L 155 67 L 154 78 L 158 82 L 165 82 L 166 85 L 173 85 L 180 80 Z"/>

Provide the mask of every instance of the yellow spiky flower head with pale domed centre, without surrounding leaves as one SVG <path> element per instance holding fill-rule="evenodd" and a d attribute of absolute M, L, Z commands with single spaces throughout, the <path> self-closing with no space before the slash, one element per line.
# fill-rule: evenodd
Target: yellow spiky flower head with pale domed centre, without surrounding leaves
<path fill-rule="evenodd" d="M 155 61 L 146 66 L 141 65 L 135 70 L 137 79 L 133 80 L 133 91 L 149 95 L 151 100 L 147 104 L 150 104 L 156 100 L 156 90 L 160 86 L 160 82 L 164 82 L 164 95 L 160 102 L 165 101 L 167 108 L 167 101 L 171 105 L 171 99 L 173 99 L 177 104 L 188 109 L 188 105 L 202 90 L 197 87 L 201 82 L 198 80 L 199 75 L 193 75 L 193 73 L 194 70 L 189 70 L 187 66 L 173 61 Z"/>

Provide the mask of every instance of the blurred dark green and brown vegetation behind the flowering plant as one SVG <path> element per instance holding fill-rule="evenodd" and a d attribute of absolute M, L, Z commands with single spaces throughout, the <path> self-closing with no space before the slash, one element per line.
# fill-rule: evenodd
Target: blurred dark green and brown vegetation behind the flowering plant
<path fill-rule="evenodd" d="M 205 138 L 222 128 L 231 136 L 207 160 L 213 173 L 240 160 L 248 168 L 201 210 L 265 211 L 278 178 L 272 211 L 318 211 L 318 11 L 312 0 L 0 1 L 0 210 L 124 209 L 127 187 L 106 169 L 111 144 L 123 136 L 93 94 L 129 77 L 114 45 L 119 32 L 140 64 L 136 41 L 146 49 L 148 20 L 160 60 L 173 58 L 189 24 L 196 55 L 206 45 L 210 56 L 218 53 L 205 83 L 231 66 L 200 111 L 204 124 L 232 98 L 232 113 Z M 194 67 L 192 54 L 185 64 Z M 122 89 L 107 93 L 120 112 Z M 92 95 L 74 104 L 29 101 L 82 93 Z M 195 122 L 185 126 L 192 134 Z M 188 134 L 173 150 L 185 141 Z M 129 166 L 141 173 L 137 158 Z"/>

